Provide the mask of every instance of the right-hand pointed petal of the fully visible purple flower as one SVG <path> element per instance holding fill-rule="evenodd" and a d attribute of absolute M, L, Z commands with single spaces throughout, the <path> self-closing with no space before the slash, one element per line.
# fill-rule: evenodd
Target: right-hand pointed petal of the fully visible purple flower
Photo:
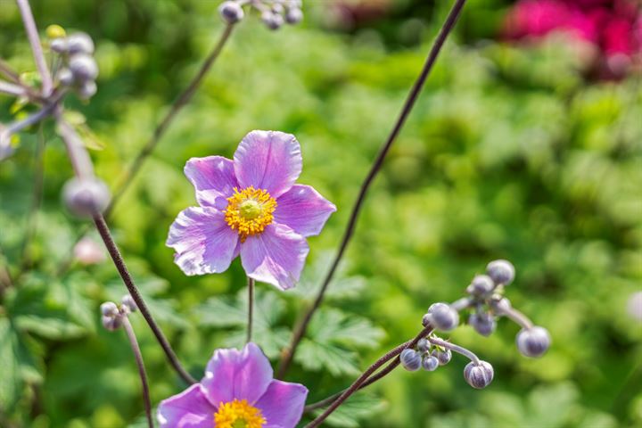
<path fill-rule="evenodd" d="M 325 221 L 334 211 L 334 204 L 313 187 L 292 185 L 276 200 L 274 218 L 276 223 L 290 227 L 299 235 L 312 236 L 321 233 Z"/>

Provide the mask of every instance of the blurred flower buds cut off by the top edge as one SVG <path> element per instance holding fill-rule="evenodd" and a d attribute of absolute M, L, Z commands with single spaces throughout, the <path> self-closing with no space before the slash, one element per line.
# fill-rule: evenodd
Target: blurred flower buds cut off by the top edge
<path fill-rule="evenodd" d="M 261 14 L 261 21 L 268 29 L 280 29 L 284 23 L 298 24 L 303 21 L 301 0 L 227 0 L 218 7 L 223 20 L 235 24 L 243 20 L 243 6 L 249 4 Z"/>

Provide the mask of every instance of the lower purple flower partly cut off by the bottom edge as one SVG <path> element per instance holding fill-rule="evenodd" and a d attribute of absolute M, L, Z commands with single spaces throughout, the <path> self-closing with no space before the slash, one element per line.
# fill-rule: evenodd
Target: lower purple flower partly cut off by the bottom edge
<path fill-rule="evenodd" d="M 171 428 L 293 428 L 308 389 L 272 378 L 268 358 L 254 343 L 216 350 L 205 377 L 161 401 L 159 424 Z"/>

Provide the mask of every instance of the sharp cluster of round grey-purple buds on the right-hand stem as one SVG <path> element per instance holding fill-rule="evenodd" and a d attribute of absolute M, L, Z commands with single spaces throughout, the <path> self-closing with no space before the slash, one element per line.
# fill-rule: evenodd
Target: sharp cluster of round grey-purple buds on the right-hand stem
<path fill-rule="evenodd" d="M 514 280 L 514 266 L 506 260 L 491 261 L 486 267 L 486 275 L 478 275 L 466 288 L 468 296 L 451 304 L 433 303 L 428 309 L 422 324 L 431 325 L 440 332 L 450 332 L 459 325 L 459 312 L 472 309 L 468 324 L 477 333 L 489 336 L 497 327 L 498 317 L 508 317 L 522 326 L 515 342 L 517 349 L 526 357 L 537 358 L 544 355 L 551 343 L 547 329 L 533 325 L 522 312 L 514 309 L 510 300 L 504 297 L 505 286 Z M 437 366 L 448 364 L 451 352 L 457 352 L 471 359 L 465 366 L 464 377 L 473 388 L 481 389 L 493 379 L 490 363 L 477 358 L 470 350 L 454 343 L 446 342 L 435 334 L 417 342 L 415 349 L 407 349 L 399 356 L 401 365 L 407 370 L 416 371 L 420 367 L 433 371 Z"/>

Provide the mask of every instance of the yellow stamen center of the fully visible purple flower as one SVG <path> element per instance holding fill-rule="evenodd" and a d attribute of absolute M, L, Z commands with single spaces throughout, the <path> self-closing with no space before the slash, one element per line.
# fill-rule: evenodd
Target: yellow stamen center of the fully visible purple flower
<path fill-rule="evenodd" d="M 226 222 L 234 230 L 238 230 L 243 243 L 248 236 L 260 234 L 274 216 L 276 199 L 263 189 L 246 187 L 227 198 L 225 210 Z"/>

